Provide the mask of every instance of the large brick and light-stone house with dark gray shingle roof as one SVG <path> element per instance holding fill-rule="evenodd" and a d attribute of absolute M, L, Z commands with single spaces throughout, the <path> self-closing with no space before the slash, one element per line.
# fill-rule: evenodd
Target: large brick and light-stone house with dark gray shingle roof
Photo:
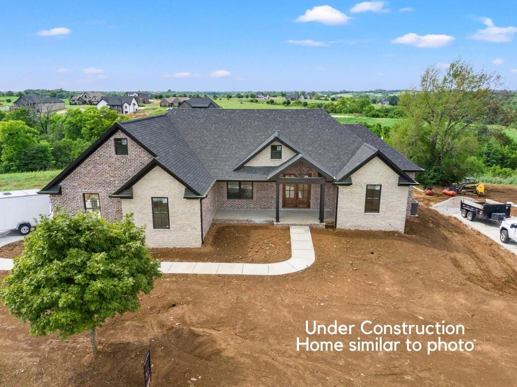
<path fill-rule="evenodd" d="M 150 247 L 199 247 L 214 222 L 404 232 L 417 171 L 321 109 L 171 109 L 116 123 L 40 193 L 132 213 Z"/>

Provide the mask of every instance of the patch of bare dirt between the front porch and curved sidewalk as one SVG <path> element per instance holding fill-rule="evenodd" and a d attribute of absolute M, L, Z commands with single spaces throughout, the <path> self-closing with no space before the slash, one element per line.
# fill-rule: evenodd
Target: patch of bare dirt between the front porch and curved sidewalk
<path fill-rule="evenodd" d="M 213 224 L 200 249 L 150 249 L 150 252 L 160 261 L 273 263 L 290 259 L 291 237 L 287 227 Z"/>

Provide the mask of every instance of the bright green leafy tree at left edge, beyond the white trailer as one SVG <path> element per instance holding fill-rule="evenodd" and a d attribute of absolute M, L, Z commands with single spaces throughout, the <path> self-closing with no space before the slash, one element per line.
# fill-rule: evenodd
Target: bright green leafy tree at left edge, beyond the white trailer
<path fill-rule="evenodd" d="M 0 122 L 0 146 L 2 172 L 27 172 L 52 166 L 50 144 L 40 141 L 38 131 L 23 121 Z"/>

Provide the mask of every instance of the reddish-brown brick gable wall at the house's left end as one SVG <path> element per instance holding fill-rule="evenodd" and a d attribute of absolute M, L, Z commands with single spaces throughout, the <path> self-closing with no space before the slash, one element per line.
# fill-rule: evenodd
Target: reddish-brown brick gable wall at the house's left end
<path fill-rule="evenodd" d="M 128 138 L 128 154 L 116 155 L 114 138 L 127 138 L 117 131 L 95 152 L 75 168 L 61 184 L 61 195 L 50 195 L 52 211 L 59 203 L 73 214 L 84 210 L 83 193 L 98 193 L 103 218 L 117 220 L 122 217 L 120 199 L 110 198 L 124 183 L 147 165 L 153 156 Z"/>

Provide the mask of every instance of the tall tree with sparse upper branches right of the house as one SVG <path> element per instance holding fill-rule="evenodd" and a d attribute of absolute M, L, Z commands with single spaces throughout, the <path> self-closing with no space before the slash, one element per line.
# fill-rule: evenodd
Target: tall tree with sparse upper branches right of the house
<path fill-rule="evenodd" d="M 401 95 L 408 119 L 393 128 L 394 146 L 424 169 L 433 168 L 433 176 L 441 171 L 436 182 L 457 179 L 462 162 L 477 152 L 481 124 L 494 119 L 490 90 L 498 84 L 499 75 L 475 72 L 461 60 L 446 70 L 428 68 L 420 88 Z"/>

